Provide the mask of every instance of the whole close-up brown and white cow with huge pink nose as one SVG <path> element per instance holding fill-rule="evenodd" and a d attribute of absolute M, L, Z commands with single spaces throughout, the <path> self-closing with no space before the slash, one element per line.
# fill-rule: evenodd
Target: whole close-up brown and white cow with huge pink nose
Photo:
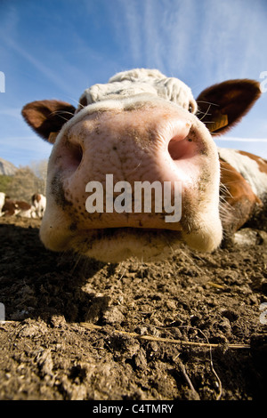
<path fill-rule="evenodd" d="M 77 108 L 61 100 L 25 105 L 25 121 L 53 144 L 40 227 L 44 246 L 104 262 L 132 255 L 153 261 L 181 243 L 213 252 L 225 231 L 238 230 L 266 201 L 266 161 L 218 150 L 213 139 L 236 125 L 260 95 L 258 82 L 236 79 L 208 87 L 195 100 L 178 78 L 135 68 L 87 88 Z M 261 194 L 240 168 L 248 161 L 255 182 L 261 177 L 265 183 Z M 156 182 L 161 190 L 171 184 L 172 205 L 162 211 L 156 210 Z M 123 187 L 135 192 L 137 184 L 151 187 L 149 210 L 134 210 L 133 194 L 113 193 Z M 181 216 L 166 221 L 175 197 Z"/>

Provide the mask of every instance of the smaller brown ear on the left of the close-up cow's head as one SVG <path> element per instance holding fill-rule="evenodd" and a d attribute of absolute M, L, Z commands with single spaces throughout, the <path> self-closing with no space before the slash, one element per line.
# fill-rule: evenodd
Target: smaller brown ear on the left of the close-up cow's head
<path fill-rule="evenodd" d="M 53 143 L 56 134 L 61 130 L 76 109 L 60 100 L 39 100 L 28 103 L 21 111 L 28 125 L 44 140 Z"/>

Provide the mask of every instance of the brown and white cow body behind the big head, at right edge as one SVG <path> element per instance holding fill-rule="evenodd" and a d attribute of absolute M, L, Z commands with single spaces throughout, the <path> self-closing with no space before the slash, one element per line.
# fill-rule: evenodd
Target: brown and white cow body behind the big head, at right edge
<path fill-rule="evenodd" d="M 267 161 L 245 151 L 218 151 L 221 164 L 221 219 L 225 234 L 236 232 L 251 219 L 263 229 L 261 221 L 267 207 Z"/>

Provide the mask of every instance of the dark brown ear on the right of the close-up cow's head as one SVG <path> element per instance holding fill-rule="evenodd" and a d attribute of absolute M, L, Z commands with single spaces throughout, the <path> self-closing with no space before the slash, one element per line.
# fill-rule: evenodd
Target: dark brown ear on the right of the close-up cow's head
<path fill-rule="evenodd" d="M 254 80 L 214 84 L 198 95 L 198 118 L 214 135 L 226 133 L 247 114 L 260 95 L 260 84 Z"/>

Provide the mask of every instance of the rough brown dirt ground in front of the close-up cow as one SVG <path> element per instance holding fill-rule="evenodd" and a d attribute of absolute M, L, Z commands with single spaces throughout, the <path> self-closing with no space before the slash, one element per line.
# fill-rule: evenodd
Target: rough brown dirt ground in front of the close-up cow
<path fill-rule="evenodd" d="M 38 227 L 0 218 L 2 400 L 266 397 L 266 232 L 102 264 L 45 250 Z"/>

